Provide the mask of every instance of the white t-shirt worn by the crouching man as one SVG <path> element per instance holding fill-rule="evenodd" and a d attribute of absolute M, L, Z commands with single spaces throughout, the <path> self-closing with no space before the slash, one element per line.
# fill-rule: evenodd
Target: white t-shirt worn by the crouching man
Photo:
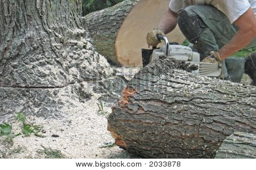
<path fill-rule="evenodd" d="M 256 0 L 171 0 L 169 8 L 178 12 L 191 5 L 212 5 L 228 16 L 230 23 L 236 21 L 250 7 L 256 16 Z"/>

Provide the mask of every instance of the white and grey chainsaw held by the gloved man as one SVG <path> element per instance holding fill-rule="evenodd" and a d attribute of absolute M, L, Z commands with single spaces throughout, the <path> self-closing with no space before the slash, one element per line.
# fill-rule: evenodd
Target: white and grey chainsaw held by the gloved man
<path fill-rule="evenodd" d="M 218 77 L 221 75 L 221 64 L 200 62 L 200 54 L 193 52 L 188 46 L 179 45 L 176 42 L 169 42 L 166 36 L 158 35 L 159 40 L 163 40 L 165 45 L 160 48 L 142 49 L 143 67 L 155 61 L 159 56 L 175 58 L 190 65 L 196 65 L 199 69 L 192 71 L 192 74 Z"/>

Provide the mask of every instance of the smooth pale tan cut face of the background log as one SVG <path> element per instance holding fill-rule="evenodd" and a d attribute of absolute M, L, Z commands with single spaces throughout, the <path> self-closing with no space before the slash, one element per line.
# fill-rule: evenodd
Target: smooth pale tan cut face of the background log
<path fill-rule="evenodd" d="M 141 0 L 126 16 L 115 39 L 115 56 L 122 65 L 142 65 L 141 49 L 148 49 L 147 32 L 157 28 L 169 0 Z M 185 37 L 177 27 L 167 37 L 182 43 Z"/>

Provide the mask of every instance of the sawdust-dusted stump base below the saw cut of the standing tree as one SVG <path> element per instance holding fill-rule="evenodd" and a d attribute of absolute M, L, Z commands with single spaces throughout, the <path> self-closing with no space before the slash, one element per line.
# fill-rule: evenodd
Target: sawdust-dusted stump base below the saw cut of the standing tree
<path fill-rule="evenodd" d="M 0 88 L 0 123 L 11 120 L 16 113 L 44 118 L 65 118 L 67 108 L 82 108 L 84 103 L 98 95 L 106 106 L 117 103 L 126 81 L 111 77 L 97 82 L 75 83 L 60 88 Z M 84 108 L 88 109 L 88 108 Z"/>

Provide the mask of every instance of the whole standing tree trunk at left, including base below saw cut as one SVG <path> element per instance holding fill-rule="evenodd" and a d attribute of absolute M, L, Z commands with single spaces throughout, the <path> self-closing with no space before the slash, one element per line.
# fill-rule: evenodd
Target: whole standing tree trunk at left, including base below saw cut
<path fill-rule="evenodd" d="M 110 78 L 113 70 L 86 38 L 81 0 L 6 0 L 0 12 L 1 122 L 16 112 L 64 116 L 65 105 L 82 104 L 109 82 L 122 91 L 125 82 Z M 110 87 L 102 98 L 114 100 Z"/>

